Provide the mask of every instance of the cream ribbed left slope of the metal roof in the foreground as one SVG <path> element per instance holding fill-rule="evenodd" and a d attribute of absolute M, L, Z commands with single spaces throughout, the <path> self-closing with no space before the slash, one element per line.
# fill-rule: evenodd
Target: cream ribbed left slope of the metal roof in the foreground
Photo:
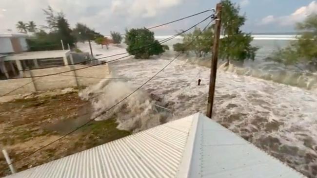
<path fill-rule="evenodd" d="M 189 116 L 9 178 L 173 178 L 191 125 Z"/>

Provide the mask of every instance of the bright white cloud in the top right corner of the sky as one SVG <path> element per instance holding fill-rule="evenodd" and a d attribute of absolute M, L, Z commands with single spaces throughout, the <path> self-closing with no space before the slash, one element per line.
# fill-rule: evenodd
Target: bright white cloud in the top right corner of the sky
<path fill-rule="evenodd" d="M 262 18 L 262 20 L 258 23 L 259 25 L 266 25 L 270 23 L 277 23 L 281 26 L 290 26 L 294 25 L 297 22 L 303 21 L 307 16 L 317 13 L 317 2 L 314 0 L 309 3 L 307 6 L 303 6 L 298 8 L 294 13 L 288 16 L 267 16 Z"/>

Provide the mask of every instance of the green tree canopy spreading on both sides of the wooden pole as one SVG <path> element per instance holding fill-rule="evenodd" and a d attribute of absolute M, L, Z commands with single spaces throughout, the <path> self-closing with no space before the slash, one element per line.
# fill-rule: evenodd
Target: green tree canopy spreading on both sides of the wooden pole
<path fill-rule="evenodd" d="M 254 60 L 258 48 L 253 47 L 251 34 L 243 33 L 240 28 L 244 25 L 245 16 L 239 15 L 240 8 L 230 0 L 221 0 L 221 35 L 219 43 L 219 58 L 223 60 Z M 196 38 L 196 36 L 199 36 Z M 184 53 L 191 51 L 198 57 L 211 53 L 214 38 L 214 25 L 201 31 L 196 27 L 192 33 L 183 35 L 183 44 L 176 44 L 175 51 Z M 192 42 L 192 43 L 190 43 Z"/>

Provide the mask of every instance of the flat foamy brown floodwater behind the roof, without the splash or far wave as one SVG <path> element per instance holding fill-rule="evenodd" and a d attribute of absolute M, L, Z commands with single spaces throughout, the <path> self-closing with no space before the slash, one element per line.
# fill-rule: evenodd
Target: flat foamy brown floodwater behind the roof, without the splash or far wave
<path fill-rule="evenodd" d="M 133 78 L 128 83 L 138 87 L 167 62 L 164 59 L 131 59 L 111 67 L 118 76 Z M 162 98 L 164 107 L 176 116 L 168 119 L 205 113 L 209 73 L 209 68 L 177 60 L 143 90 Z M 198 78 L 202 79 L 201 86 L 197 86 Z M 220 124 L 305 175 L 316 176 L 316 93 L 219 71 L 215 102 L 214 119 Z"/>

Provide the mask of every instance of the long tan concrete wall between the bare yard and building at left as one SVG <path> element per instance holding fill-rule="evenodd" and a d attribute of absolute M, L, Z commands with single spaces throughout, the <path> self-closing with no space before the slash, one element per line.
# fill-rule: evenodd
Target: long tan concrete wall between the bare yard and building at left
<path fill-rule="evenodd" d="M 70 71 L 71 69 L 79 69 L 83 67 L 87 66 L 62 66 L 48 69 L 24 71 L 24 77 L 53 74 L 57 72 Z M 23 85 L 25 86 L 20 89 L 17 89 L 16 91 L 8 95 L 25 94 L 50 89 L 64 89 L 77 86 L 89 86 L 99 83 L 99 81 L 102 80 L 102 78 L 106 78 L 108 74 L 108 65 L 99 65 L 78 71 L 70 71 L 58 75 L 51 75 L 45 77 L 0 80 L 0 95 L 6 94 Z"/>

